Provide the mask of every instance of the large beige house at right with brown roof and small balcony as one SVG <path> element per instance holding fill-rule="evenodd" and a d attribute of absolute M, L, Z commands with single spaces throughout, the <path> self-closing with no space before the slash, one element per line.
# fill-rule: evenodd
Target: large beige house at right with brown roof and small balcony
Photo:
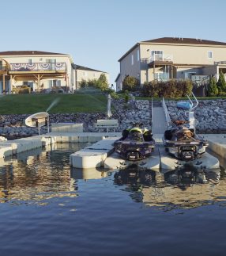
<path fill-rule="evenodd" d="M 226 43 L 194 38 L 163 37 L 135 44 L 119 59 L 116 90 L 126 75 L 141 85 L 153 80 L 190 78 L 202 82 L 226 73 Z"/>

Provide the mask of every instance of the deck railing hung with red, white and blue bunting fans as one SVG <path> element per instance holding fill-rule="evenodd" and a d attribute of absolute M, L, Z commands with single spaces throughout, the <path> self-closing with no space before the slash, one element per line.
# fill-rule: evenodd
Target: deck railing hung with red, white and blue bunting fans
<path fill-rule="evenodd" d="M 66 63 L 11 63 L 9 71 L 66 71 Z"/>

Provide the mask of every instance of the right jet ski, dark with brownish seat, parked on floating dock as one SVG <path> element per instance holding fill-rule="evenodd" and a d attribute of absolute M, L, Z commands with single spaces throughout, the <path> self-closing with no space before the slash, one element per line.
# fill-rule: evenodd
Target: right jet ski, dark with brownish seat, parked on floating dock
<path fill-rule="evenodd" d="M 164 132 L 164 147 L 175 158 L 190 161 L 198 159 L 205 153 L 209 143 L 201 136 L 195 134 L 193 128 L 187 128 L 186 120 L 175 120 L 171 129 Z"/>

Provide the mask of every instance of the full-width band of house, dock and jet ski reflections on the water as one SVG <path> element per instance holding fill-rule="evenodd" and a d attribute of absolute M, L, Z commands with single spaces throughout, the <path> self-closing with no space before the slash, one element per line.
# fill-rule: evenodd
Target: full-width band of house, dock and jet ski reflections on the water
<path fill-rule="evenodd" d="M 173 208 L 194 208 L 215 201 L 225 201 L 226 178 L 224 170 L 200 173 L 186 166 L 183 171 L 174 170 L 160 174 L 152 170 L 130 168 L 111 171 L 70 168 L 70 154 L 86 144 L 57 144 L 34 151 L 28 151 L 17 158 L 2 160 L 0 167 L 0 202 L 29 201 L 47 204 L 54 197 L 77 197 L 78 180 L 102 179 L 100 184 L 114 179 L 110 190 L 119 189 L 130 193 L 133 201 L 171 210 Z M 101 187 L 89 182 L 96 192 Z"/>

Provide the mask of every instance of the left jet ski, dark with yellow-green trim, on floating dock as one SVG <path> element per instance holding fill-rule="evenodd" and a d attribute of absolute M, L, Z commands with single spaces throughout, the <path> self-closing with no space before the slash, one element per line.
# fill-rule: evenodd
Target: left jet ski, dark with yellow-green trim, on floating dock
<path fill-rule="evenodd" d="M 137 161 L 152 154 L 155 140 L 151 130 L 143 128 L 141 123 L 133 123 L 131 128 L 122 131 L 122 138 L 116 140 L 114 146 L 122 159 Z"/>

